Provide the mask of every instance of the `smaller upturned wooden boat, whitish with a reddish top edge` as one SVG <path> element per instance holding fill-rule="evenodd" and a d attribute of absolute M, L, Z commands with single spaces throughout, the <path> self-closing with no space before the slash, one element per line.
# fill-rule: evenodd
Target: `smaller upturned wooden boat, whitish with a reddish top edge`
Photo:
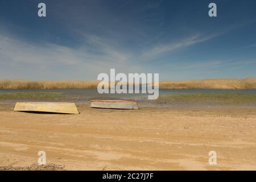
<path fill-rule="evenodd" d="M 105 109 L 139 109 L 135 101 L 119 101 L 119 100 L 92 100 L 90 107 Z"/>

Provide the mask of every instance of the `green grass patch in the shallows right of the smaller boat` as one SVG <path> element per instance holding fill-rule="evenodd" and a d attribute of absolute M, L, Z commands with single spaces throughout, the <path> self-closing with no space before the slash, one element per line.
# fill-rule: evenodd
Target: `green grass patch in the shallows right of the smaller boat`
<path fill-rule="evenodd" d="M 174 94 L 170 96 L 160 96 L 155 101 L 158 104 L 171 103 L 209 103 L 209 104 L 256 104 L 256 94 L 246 93 L 192 93 Z"/>

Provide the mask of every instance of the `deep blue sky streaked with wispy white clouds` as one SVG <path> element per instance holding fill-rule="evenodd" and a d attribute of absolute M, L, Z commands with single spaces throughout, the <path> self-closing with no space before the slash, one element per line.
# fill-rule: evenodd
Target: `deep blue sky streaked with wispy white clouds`
<path fill-rule="evenodd" d="M 110 68 L 160 80 L 256 77 L 255 33 L 254 0 L 1 1 L 0 79 L 96 80 Z"/>

